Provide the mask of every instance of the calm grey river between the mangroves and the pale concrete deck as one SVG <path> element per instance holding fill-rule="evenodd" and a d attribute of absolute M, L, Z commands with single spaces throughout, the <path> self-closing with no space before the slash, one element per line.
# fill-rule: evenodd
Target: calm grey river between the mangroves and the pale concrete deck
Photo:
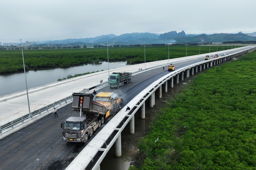
<path fill-rule="evenodd" d="M 127 66 L 126 62 L 109 63 L 109 69 L 125 66 Z M 108 62 L 102 62 L 101 64 L 86 64 L 69 68 L 29 70 L 26 71 L 26 79 L 29 89 L 40 85 L 57 82 L 59 78 L 64 78 L 68 75 L 73 76 L 75 74 L 101 70 L 108 70 Z M 26 90 L 24 72 L 0 75 L 0 82 L 0 96 Z"/>

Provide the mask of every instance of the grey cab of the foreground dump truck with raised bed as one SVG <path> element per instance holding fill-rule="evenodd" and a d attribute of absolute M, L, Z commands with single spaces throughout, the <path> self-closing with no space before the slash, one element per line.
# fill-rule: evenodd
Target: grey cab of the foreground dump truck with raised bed
<path fill-rule="evenodd" d="M 86 117 L 69 117 L 61 122 L 62 140 L 68 142 L 84 142 L 88 140 Z"/>

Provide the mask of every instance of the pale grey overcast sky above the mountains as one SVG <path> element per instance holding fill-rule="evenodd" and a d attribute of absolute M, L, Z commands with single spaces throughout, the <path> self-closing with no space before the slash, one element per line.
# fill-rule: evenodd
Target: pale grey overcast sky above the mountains
<path fill-rule="evenodd" d="M 3 42 L 106 34 L 254 33 L 255 0 L 3 0 Z"/>

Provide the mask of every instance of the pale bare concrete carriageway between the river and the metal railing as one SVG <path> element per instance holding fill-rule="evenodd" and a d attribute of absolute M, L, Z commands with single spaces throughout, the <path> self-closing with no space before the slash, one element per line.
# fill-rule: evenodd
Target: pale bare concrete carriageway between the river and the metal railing
<path fill-rule="evenodd" d="M 169 62 L 175 62 L 177 60 L 180 59 L 170 59 Z M 142 71 L 135 73 L 139 74 L 148 70 L 148 68 L 155 66 L 165 66 L 165 69 L 167 69 L 167 65 L 168 60 L 150 62 L 146 64 L 142 63 L 122 68 L 110 69 L 109 74 L 112 72 L 136 72 L 139 69 L 142 69 Z M 103 80 L 103 82 L 108 80 L 108 70 L 28 89 L 30 112 L 33 112 L 34 110 L 40 109 L 58 100 L 64 99 L 72 95 L 73 92 L 81 92 L 85 89 L 96 86 L 100 84 L 100 80 Z M 12 122 L 13 120 L 16 120 L 24 115 L 27 115 L 29 111 L 26 91 L 1 96 L 0 108 L 0 126 L 8 122 Z"/>

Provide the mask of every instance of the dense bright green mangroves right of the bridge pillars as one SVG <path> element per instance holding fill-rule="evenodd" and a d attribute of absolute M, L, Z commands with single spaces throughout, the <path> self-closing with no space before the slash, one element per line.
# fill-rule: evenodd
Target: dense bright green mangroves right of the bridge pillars
<path fill-rule="evenodd" d="M 255 169 L 255 56 L 197 74 L 159 111 L 129 170 Z"/>

